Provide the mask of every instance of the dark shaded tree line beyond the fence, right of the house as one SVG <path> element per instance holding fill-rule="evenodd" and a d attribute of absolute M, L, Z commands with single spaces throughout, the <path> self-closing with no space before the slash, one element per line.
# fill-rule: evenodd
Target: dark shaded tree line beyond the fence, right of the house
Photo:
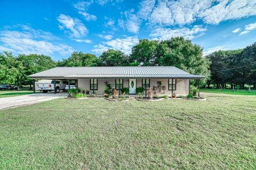
<path fill-rule="evenodd" d="M 214 84 L 217 88 L 253 85 L 256 89 L 256 43 L 237 50 L 219 50 L 206 56 L 210 61 L 211 79 L 207 86 Z"/>

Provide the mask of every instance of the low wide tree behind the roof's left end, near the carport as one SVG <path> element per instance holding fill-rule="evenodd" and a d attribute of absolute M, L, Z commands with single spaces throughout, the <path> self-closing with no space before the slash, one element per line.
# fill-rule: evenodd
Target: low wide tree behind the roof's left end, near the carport
<path fill-rule="evenodd" d="M 98 58 L 94 54 L 74 52 L 68 59 L 58 62 L 58 66 L 78 67 L 78 66 L 97 66 Z"/>

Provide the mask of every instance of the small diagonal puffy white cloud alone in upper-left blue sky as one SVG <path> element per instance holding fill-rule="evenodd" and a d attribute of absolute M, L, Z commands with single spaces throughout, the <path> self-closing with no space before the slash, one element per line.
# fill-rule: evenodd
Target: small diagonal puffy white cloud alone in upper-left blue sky
<path fill-rule="evenodd" d="M 89 32 L 80 20 L 73 19 L 71 16 L 60 14 L 57 20 L 60 22 L 60 30 L 65 30 L 70 37 L 80 38 L 86 36 Z"/>

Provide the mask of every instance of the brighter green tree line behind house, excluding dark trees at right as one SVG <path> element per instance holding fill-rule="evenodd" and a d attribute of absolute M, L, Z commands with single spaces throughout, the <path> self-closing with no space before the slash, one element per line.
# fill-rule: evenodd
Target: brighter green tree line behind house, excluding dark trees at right
<path fill-rule="evenodd" d="M 203 57 L 203 48 L 183 37 L 156 41 L 142 39 L 132 47 L 130 55 L 121 50 L 109 49 L 99 57 L 94 54 L 74 52 L 67 59 L 54 61 L 50 56 L 0 54 L 0 83 L 29 85 L 30 74 L 56 66 L 176 66 L 191 74 L 210 77 L 209 60 Z"/>

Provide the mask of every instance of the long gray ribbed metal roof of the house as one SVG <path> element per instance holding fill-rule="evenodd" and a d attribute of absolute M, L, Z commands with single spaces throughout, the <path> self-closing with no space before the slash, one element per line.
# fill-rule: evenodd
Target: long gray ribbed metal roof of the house
<path fill-rule="evenodd" d="M 55 67 L 29 75 L 31 78 L 191 78 L 202 75 L 189 74 L 174 66 L 116 66 L 116 67 Z"/>

